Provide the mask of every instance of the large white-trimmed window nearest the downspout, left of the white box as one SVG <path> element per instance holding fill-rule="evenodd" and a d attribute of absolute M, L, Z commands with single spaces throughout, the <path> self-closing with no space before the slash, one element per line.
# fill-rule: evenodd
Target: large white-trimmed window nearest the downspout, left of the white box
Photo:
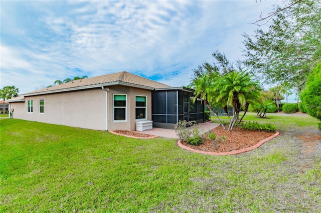
<path fill-rule="evenodd" d="M 127 120 L 127 95 L 113 94 L 113 120 L 126 121 Z"/>

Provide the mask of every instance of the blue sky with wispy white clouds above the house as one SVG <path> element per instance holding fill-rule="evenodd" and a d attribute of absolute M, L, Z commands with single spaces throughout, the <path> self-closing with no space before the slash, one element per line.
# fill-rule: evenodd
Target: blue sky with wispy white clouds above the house
<path fill-rule="evenodd" d="M 1 87 L 20 93 L 76 75 L 126 70 L 171 86 L 218 49 L 242 59 L 242 33 L 269 0 L 0 1 Z"/>

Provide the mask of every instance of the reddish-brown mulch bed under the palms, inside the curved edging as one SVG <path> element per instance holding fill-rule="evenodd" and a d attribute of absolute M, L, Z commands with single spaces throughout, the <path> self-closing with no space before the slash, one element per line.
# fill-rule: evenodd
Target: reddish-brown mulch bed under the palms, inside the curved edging
<path fill-rule="evenodd" d="M 223 142 L 223 139 L 220 139 L 220 141 L 217 142 L 216 147 L 213 145 L 213 141 L 210 139 L 205 139 L 204 144 L 200 145 L 191 145 L 187 144 L 186 142 L 182 142 L 182 144 L 201 151 L 227 152 L 250 147 L 275 133 L 244 130 L 239 127 L 234 127 L 232 131 L 229 131 L 224 130 L 222 126 L 214 128 L 211 131 L 215 133 L 216 138 L 225 135 L 226 141 Z"/>

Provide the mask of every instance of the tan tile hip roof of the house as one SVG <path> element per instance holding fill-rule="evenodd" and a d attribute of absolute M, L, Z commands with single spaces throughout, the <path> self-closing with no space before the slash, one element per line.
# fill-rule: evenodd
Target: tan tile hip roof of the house
<path fill-rule="evenodd" d="M 116 72 L 116 73 L 111 73 L 111 74 L 106 74 L 106 75 L 101 75 L 96 77 L 73 80 L 71 82 L 58 84 L 55 86 L 39 89 L 36 91 L 31 91 L 31 92 L 25 93 L 24 95 L 26 96 L 26 95 L 32 95 L 34 93 L 42 93 L 42 92 L 50 93 L 51 91 L 59 92 L 59 90 L 68 91 L 68 89 L 74 90 L 77 88 L 82 88 L 87 86 L 99 87 L 107 83 L 112 84 L 113 82 L 115 82 L 115 84 L 117 84 L 117 82 L 123 82 L 123 83 L 128 83 L 129 86 L 131 84 L 132 86 L 138 86 L 138 87 L 139 86 L 150 87 L 150 88 L 171 87 L 169 85 L 159 83 L 154 80 L 150 80 L 148 78 L 144 78 L 126 71 L 121 71 L 121 72 Z"/>

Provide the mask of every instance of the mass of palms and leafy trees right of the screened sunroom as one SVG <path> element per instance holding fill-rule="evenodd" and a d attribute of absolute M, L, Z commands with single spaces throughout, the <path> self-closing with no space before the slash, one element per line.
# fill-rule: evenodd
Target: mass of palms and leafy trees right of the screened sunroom
<path fill-rule="evenodd" d="M 211 105 L 233 107 L 229 130 L 241 107 L 246 113 L 250 106 L 265 117 L 269 110 L 280 110 L 280 100 L 293 89 L 302 99 L 302 110 L 321 120 L 321 1 L 286 3 L 256 21 L 253 35 L 243 34 L 245 60 L 232 63 L 216 50 L 213 63 L 204 62 L 194 69 L 190 86 L 213 114 L 217 115 Z M 266 30 L 261 27 L 265 24 Z M 242 84 L 245 75 L 247 80 Z M 277 86 L 264 91 L 259 82 Z"/>

